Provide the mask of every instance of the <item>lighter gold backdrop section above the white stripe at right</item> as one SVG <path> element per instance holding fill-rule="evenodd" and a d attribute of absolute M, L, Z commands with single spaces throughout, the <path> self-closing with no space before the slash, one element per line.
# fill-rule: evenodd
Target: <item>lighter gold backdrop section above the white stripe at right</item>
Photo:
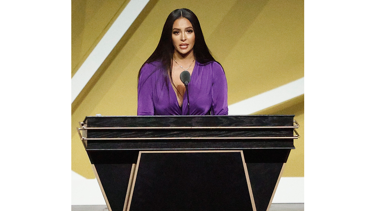
<path fill-rule="evenodd" d="M 304 76 L 304 7 L 303 1 L 297 2 L 268 1 L 228 48 L 221 63 L 228 78 L 229 104 Z"/>

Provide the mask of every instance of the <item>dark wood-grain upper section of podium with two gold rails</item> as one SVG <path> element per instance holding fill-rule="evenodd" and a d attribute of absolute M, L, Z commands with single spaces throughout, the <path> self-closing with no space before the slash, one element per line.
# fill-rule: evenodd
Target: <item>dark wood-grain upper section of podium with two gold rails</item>
<path fill-rule="evenodd" d="M 294 115 L 87 116 L 86 150 L 294 148 Z"/>

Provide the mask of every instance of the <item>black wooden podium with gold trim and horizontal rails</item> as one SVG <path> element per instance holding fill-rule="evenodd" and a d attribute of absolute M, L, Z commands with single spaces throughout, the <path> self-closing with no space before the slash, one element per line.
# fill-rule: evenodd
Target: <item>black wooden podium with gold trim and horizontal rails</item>
<path fill-rule="evenodd" d="M 268 211 L 293 117 L 87 116 L 77 130 L 109 211 Z"/>

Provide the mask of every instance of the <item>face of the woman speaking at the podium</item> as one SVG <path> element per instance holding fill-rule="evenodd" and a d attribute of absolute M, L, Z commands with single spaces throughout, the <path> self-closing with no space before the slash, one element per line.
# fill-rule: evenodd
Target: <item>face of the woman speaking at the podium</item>
<path fill-rule="evenodd" d="M 193 53 L 195 43 L 195 34 L 193 26 L 186 18 L 180 18 L 174 21 L 172 28 L 172 42 L 174 52 L 185 57 Z"/>

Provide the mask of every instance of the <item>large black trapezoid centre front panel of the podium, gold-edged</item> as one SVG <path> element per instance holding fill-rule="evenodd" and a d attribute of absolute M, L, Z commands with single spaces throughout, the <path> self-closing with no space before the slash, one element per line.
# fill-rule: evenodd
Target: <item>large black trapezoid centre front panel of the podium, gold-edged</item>
<path fill-rule="evenodd" d="M 252 211 L 241 152 L 141 153 L 130 211 Z"/>

